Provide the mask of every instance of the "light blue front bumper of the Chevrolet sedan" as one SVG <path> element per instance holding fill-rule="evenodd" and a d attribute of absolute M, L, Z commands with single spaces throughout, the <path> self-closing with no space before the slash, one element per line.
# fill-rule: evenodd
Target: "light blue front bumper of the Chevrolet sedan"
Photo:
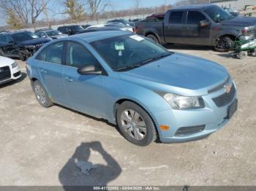
<path fill-rule="evenodd" d="M 236 88 L 236 85 L 234 85 Z M 228 109 L 237 99 L 237 93 L 233 98 L 225 104 L 225 106 L 217 106 L 213 98 L 217 98 L 225 93 L 225 89 L 218 90 L 215 93 L 203 95 L 206 107 L 203 109 L 175 110 L 154 114 L 157 127 L 160 125 L 169 126 L 169 130 L 161 130 L 158 128 L 159 139 L 164 143 L 190 141 L 208 136 L 211 133 L 221 129 L 230 119 L 227 119 Z M 178 130 L 181 128 L 197 128 L 203 127 L 197 133 L 187 133 L 177 136 Z"/>

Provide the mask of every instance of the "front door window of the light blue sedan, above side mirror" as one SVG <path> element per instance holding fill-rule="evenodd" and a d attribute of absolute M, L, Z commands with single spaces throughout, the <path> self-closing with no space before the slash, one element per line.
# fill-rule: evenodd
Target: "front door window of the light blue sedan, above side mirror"
<path fill-rule="evenodd" d="M 67 66 L 79 69 L 89 64 L 99 69 L 98 61 L 86 47 L 76 42 L 69 42 L 67 44 Z"/>

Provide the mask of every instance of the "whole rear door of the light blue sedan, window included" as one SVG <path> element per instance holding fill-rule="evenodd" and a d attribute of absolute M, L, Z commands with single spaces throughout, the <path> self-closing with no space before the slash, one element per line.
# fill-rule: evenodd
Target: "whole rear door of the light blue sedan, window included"
<path fill-rule="evenodd" d="M 62 77 L 64 42 L 56 42 L 45 47 L 36 60 L 38 61 L 41 82 L 54 103 L 68 106 L 67 93 Z"/>

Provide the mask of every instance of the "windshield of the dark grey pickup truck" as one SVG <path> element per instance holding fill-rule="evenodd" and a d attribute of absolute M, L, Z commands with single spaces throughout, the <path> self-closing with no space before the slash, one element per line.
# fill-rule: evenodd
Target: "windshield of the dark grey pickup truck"
<path fill-rule="evenodd" d="M 216 23 L 219 23 L 222 20 L 227 20 L 233 17 L 232 15 L 230 15 L 229 12 L 217 6 L 209 7 L 208 9 L 205 10 L 205 12 Z"/>

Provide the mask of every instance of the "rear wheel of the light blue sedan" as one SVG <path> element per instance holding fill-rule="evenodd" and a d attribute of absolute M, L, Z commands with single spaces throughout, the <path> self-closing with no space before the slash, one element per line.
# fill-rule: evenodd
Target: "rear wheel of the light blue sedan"
<path fill-rule="evenodd" d="M 45 87 L 38 81 L 34 81 L 33 83 L 34 95 L 36 95 L 37 101 L 39 104 L 45 108 L 53 106 L 53 102 L 50 101 L 48 93 L 45 90 Z"/>

